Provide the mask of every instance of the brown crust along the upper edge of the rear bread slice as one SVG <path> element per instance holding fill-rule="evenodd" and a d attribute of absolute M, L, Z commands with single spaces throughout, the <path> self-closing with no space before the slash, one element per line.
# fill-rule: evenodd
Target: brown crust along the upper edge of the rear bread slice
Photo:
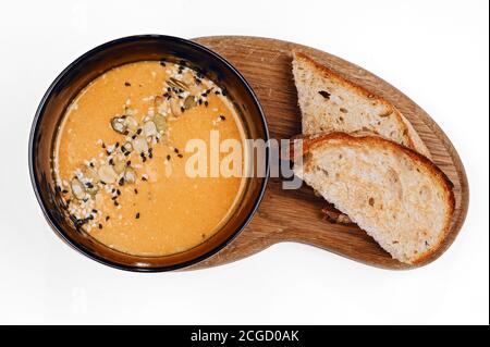
<path fill-rule="evenodd" d="M 403 127 L 403 134 L 406 139 L 407 146 L 414 150 L 417 150 L 420 154 L 431 159 L 429 149 L 424 144 L 424 141 L 419 138 L 419 136 L 418 136 L 417 132 L 415 131 L 415 128 L 413 127 L 413 125 L 408 122 L 408 120 L 405 119 L 405 116 L 392 103 L 388 102 L 383 97 L 376 95 L 376 94 L 369 91 L 368 89 L 364 88 L 363 86 L 359 86 L 359 85 L 344 78 L 338 72 L 334 72 L 333 70 L 318 63 L 317 61 L 315 61 L 314 59 L 311 59 L 310 57 L 306 55 L 305 53 L 303 53 L 301 51 L 294 50 L 293 57 L 295 60 L 303 61 L 303 62 L 309 64 L 310 66 L 313 66 L 313 69 L 315 71 L 317 71 L 317 73 L 319 73 L 323 77 L 335 79 L 335 82 L 338 84 L 343 85 L 344 87 L 350 88 L 350 89 L 356 91 L 357 94 L 365 96 L 366 98 L 376 100 L 377 102 L 385 106 L 388 109 L 391 109 L 394 116 L 399 121 L 400 126 Z"/>

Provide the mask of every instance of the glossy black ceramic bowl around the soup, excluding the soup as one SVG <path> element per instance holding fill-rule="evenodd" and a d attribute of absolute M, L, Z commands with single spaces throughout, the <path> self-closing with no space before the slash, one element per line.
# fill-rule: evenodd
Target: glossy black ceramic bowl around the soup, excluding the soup
<path fill-rule="evenodd" d="M 51 84 L 34 119 L 29 138 L 29 170 L 34 190 L 42 212 L 53 231 L 73 248 L 103 264 L 131 271 L 169 271 L 195 264 L 226 246 L 250 221 L 260 203 L 269 174 L 269 150 L 262 164 L 265 177 L 248 179 L 243 200 L 223 227 L 205 243 L 176 255 L 136 257 L 113 250 L 81 230 L 63 212 L 60 193 L 52 175 L 53 142 L 58 125 L 70 101 L 90 80 L 115 66 L 142 61 L 184 61 L 198 69 L 228 91 L 246 127 L 248 138 L 269 139 L 266 119 L 250 86 L 223 58 L 185 39 L 142 35 L 117 39 L 83 54 Z"/>

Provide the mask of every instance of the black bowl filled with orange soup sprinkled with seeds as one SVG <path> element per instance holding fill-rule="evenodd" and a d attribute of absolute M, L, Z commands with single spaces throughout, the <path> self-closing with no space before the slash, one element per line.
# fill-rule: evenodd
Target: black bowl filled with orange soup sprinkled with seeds
<path fill-rule="evenodd" d="M 101 45 L 52 83 L 29 138 L 42 212 L 103 264 L 169 271 L 225 247 L 269 174 L 268 129 L 244 77 L 185 39 Z"/>

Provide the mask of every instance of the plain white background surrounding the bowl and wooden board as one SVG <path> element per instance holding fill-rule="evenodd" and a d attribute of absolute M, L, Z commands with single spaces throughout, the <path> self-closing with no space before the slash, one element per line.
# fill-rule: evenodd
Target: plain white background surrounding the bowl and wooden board
<path fill-rule="evenodd" d="M 488 1 L 2 1 L 0 323 L 489 323 Z M 357 63 L 419 103 L 457 148 L 471 197 L 449 251 L 415 271 L 309 246 L 184 273 L 137 274 L 65 246 L 27 169 L 45 90 L 76 57 L 134 34 L 253 35 Z"/>

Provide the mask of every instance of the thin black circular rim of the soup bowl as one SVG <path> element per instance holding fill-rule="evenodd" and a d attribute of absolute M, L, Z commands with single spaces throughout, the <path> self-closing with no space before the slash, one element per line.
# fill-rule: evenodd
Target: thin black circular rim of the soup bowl
<path fill-rule="evenodd" d="M 101 51 L 103 51 L 103 50 L 106 50 L 108 48 L 117 46 L 117 45 L 121 45 L 121 44 L 125 44 L 125 42 L 132 42 L 132 41 L 147 40 L 147 39 L 155 39 L 155 40 L 159 40 L 159 41 L 162 41 L 162 42 L 179 42 L 179 44 L 192 46 L 194 49 L 200 50 L 200 51 L 205 52 L 206 54 L 211 55 L 211 58 L 218 60 L 221 64 L 223 64 L 226 69 L 229 69 L 238 78 L 238 80 L 245 86 L 245 89 L 252 96 L 252 99 L 254 100 L 254 102 L 255 102 L 255 104 L 256 104 L 256 107 L 257 107 L 257 109 L 259 111 L 260 120 L 261 120 L 261 126 L 262 126 L 264 134 L 265 134 L 264 140 L 266 142 L 268 142 L 269 139 L 270 139 L 269 127 L 268 127 L 268 124 L 267 124 L 267 119 L 266 119 L 264 109 L 262 109 L 262 107 L 260 104 L 260 101 L 258 100 L 254 89 L 247 83 L 245 77 L 229 61 L 226 61 L 224 58 L 222 58 L 218 53 L 213 52 L 209 48 L 207 48 L 207 47 L 205 47 L 203 45 L 199 45 L 199 44 L 197 44 L 195 41 L 192 41 L 192 40 L 187 40 L 187 39 L 175 37 L 175 36 L 159 35 L 159 34 L 144 34 L 144 35 L 126 36 L 126 37 L 122 37 L 122 38 L 118 38 L 118 39 L 113 39 L 113 40 L 107 41 L 105 44 L 101 44 L 101 45 L 99 45 L 99 46 L 88 50 L 87 52 L 85 52 L 82 55 L 79 55 L 78 58 L 76 58 L 65 69 L 63 69 L 61 71 L 61 73 L 54 78 L 54 80 L 51 83 L 51 85 L 46 90 L 45 95 L 42 96 L 42 98 L 41 98 L 41 100 L 39 102 L 39 106 L 37 107 L 37 110 L 36 110 L 36 113 L 35 113 L 34 120 L 33 120 L 33 124 L 30 126 L 29 142 L 28 142 L 28 166 L 29 166 L 30 183 L 33 185 L 37 202 L 38 202 L 38 205 L 40 206 L 40 208 L 42 210 L 42 214 L 44 214 L 46 221 L 51 226 L 51 230 L 63 241 L 65 241 L 69 246 L 71 246 L 71 248 L 77 250 L 79 253 L 86 256 L 87 258 L 89 258 L 91 260 L 95 260 L 98 263 L 108 265 L 110 268 L 114 268 L 114 269 L 119 269 L 119 270 L 125 270 L 125 271 L 131 271 L 131 272 L 145 272 L 145 273 L 148 273 L 148 272 L 167 272 L 167 271 L 175 271 L 175 270 L 180 270 L 180 269 L 185 269 L 185 268 L 188 268 L 191 265 L 197 264 L 197 263 L 199 263 L 199 262 L 210 258 L 211 256 L 218 253 L 220 250 L 222 250 L 224 247 L 226 247 L 232 240 L 234 240 L 236 238 L 236 236 L 238 236 L 243 232 L 243 230 L 248 225 L 248 223 L 252 221 L 253 216 L 257 212 L 257 209 L 260 206 L 260 202 L 261 202 L 261 200 L 264 198 L 264 195 L 266 193 L 266 188 L 267 188 L 267 184 L 269 182 L 269 175 L 270 175 L 270 147 L 266 146 L 266 175 L 265 175 L 265 177 L 262 177 L 262 182 L 261 182 L 261 185 L 260 185 L 259 194 L 258 194 L 258 197 L 255 199 L 253 209 L 248 212 L 248 214 L 243 220 L 241 225 L 232 234 L 230 234 L 222 243 L 217 245 L 215 248 L 208 250 L 207 252 L 205 252 L 205 253 L 203 253 L 203 255 L 200 255 L 200 256 L 198 256 L 198 257 L 196 257 L 194 259 L 191 259 L 191 260 L 187 260 L 185 262 L 182 262 L 182 263 L 176 263 L 176 264 L 166 265 L 166 267 L 157 267 L 157 268 L 144 268 L 144 267 L 138 267 L 138 265 L 125 265 L 125 264 L 121 264 L 121 263 L 114 262 L 112 260 L 109 260 L 109 259 L 107 259 L 105 257 L 101 257 L 99 255 L 96 255 L 96 253 L 91 252 L 88 248 L 86 248 L 86 247 L 75 243 L 74 240 L 72 240 L 69 237 L 68 233 L 65 233 L 63 227 L 58 224 L 56 219 L 52 216 L 51 212 L 46 208 L 45 201 L 42 200 L 42 197 L 40 195 L 39 183 L 36 179 L 37 172 L 36 172 L 36 168 L 35 168 L 35 164 L 34 164 L 35 163 L 35 158 L 36 158 L 35 150 L 34 150 L 34 147 L 35 147 L 34 146 L 34 139 L 36 138 L 36 135 L 38 133 L 39 123 L 40 123 L 40 121 L 44 117 L 45 104 L 51 98 L 51 95 L 52 95 L 54 88 L 60 83 L 60 80 L 72 69 L 74 69 L 76 65 L 78 65 L 85 59 L 89 58 L 90 55 L 93 55 L 95 53 L 101 52 Z M 134 256 L 134 257 L 137 257 L 137 256 Z"/>

